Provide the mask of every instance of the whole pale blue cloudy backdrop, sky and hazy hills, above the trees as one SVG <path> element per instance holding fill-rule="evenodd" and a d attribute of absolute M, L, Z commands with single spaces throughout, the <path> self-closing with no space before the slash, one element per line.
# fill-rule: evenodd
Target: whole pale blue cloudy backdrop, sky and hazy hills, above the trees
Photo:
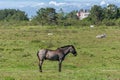
<path fill-rule="evenodd" d="M 35 15 L 40 8 L 53 7 L 56 10 L 62 8 L 65 11 L 88 8 L 93 5 L 115 4 L 120 7 L 120 0 L 0 0 L 0 9 L 20 9 L 29 16 Z"/>

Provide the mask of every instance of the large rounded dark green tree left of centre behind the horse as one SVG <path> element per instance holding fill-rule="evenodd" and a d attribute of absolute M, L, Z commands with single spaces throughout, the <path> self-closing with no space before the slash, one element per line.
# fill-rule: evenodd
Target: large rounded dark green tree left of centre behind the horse
<path fill-rule="evenodd" d="M 57 24 L 57 15 L 54 8 L 41 8 L 37 11 L 34 20 L 37 20 L 41 25 Z"/>

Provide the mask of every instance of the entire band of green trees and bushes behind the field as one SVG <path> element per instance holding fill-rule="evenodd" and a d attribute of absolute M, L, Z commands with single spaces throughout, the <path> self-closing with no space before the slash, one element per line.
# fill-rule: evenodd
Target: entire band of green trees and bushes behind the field
<path fill-rule="evenodd" d="M 120 24 L 120 8 L 114 4 L 106 7 L 94 5 L 89 10 L 87 18 L 79 20 L 77 10 L 65 13 L 63 9 L 58 12 L 54 8 L 40 8 L 30 20 L 24 11 L 16 9 L 0 10 L 0 25 L 2 23 L 13 23 L 17 25 L 57 25 L 57 26 L 89 26 L 106 25 L 114 26 Z M 17 23 L 18 22 L 18 23 Z M 24 22 L 24 23 L 21 23 Z"/>

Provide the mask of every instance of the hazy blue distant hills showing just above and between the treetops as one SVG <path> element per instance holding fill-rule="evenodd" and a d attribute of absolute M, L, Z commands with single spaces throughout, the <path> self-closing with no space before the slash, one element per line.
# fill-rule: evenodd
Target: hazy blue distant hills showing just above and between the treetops
<path fill-rule="evenodd" d="M 90 9 L 93 5 L 100 5 L 102 7 L 107 6 L 109 3 L 105 3 L 105 2 L 101 2 L 101 3 L 84 3 L 84 4 L 80 4 L 78 5 L 64 5 L 64 6 L 56 6 L 56 5 L 48 5 L 48 7 L 53 7 L 56 9 L 56 11 L 59 11 L 60 8 L 63 9 L 64 12 L 70 12 L 73 10 L 80 10 L 80 9 Z M 115 3 L 116 6 L 120 7 L 120 3 Z M 47 6 L 44 6 L 47 7 Z M 41 7 L 31 7 L 31 6 L 26 6 L 26 7 L 22 7 L 20 8 L 20 10 L 25 11 L 28 14 L 28 17 L 32 17 L 36 15 L 36 12 L 38 11 L 38 9 L 40 9 Z"/>

